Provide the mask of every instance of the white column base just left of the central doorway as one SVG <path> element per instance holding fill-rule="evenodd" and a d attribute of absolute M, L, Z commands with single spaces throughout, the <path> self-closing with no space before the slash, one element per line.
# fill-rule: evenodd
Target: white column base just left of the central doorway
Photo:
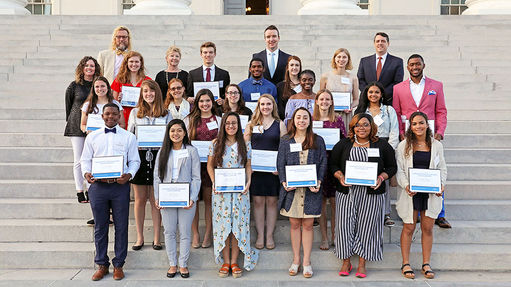
<path fill-rule="evenodd" d="M 133 0 L 135 6 L 124 15 L 193 15 L 192 0 Z"/>

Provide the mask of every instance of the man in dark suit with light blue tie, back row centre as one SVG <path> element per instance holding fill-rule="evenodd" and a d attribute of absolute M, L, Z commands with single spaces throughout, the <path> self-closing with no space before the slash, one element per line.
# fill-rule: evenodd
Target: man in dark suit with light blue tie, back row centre
<path fill-rule="evenodd" d="M 291 57 L 291 55 L 284 53 L 278 48 L 280 40 L 281 37 L 278 35 L 278 29 L 275 25 L 269 25 L 264 30 L 266 49 L 252 55 L 252 59 L 259 58 L 263 60 L 263 67 L 265 69 L 263 77 L 275 86 L 277 83 L 284 81 L 287 60 Z"/>

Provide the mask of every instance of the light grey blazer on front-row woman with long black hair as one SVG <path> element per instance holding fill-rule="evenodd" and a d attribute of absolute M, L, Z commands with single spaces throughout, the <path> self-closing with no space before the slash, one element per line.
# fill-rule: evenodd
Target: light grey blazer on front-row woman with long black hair
<path fill-rule="evenodd" d="M 197 148 L 191 145 L 181 146 L 181 149 L 188 149 L 188 157 L 178 160 L 178 182 L 190 182 L 190 199 L 197 202 L 199 199 L 200 189 L 200 158 Z M 161 182 L 170 183 L 172 182 L 172 169 L 174 167 L 174 160 L 172 158 L 173 152 L 170 152 L 169 160 L 167 162 L 167 173 L 165 174 L 164 180 L 160 180 L 159 170 L 159 156 L 160 151 L 156 155 L 156 163 L 154 164 L 154 198 L 158 198 L 158 184 Z"/>

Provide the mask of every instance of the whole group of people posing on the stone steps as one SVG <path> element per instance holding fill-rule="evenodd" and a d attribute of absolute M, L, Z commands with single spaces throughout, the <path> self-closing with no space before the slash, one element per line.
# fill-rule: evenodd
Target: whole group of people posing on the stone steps
<path fill-rule="evenodd" d="M 384 226 L 394 225 L 389 186 L 399 189 L 396 210 L 404 222 L 402 272 L 407 278 L 415 276 L 408 257 L 415 224 L 421 222 L 422 273 L 434 277 L 429 266 L 433 225 L 450 227 L 444 216 L 444 189 L 435 194 L 410 192 L 408 168 L 440 169 L 442 187 L 445 185 L 447 169 L 439 142 L 447 124 L 442 83 L 424 75 L 424 59 L 417 54 L 409 57 L 406 67 L 410 77 L 402 81 L 403 60 L 387 53 L 389 37 L 380 32 L 374 38 L 376 54 L 360 60 L 357 75 L 348 72 L 353 69 L 349 51 L 336 50 L 331 60 L 333 70 L 321 75 L 315 93 L 315 73 L 303 69 L 300 58 L 278 48 L 280 35 L 274 25 L 265 29 L 264 39 L 266 49 L 252 55 L 249 77 L 238 85 L 230 83 L 228 71 L 215 65 L 216 46 L 212 42 L 200 46 L 203 64 L 190 72 L 179 68 L 179 47 L 169 47 L 167 69 L 151 80 L 143 56 L 131 50 L 132 36 L 124 26 L 114 30 L 110 49 L 101 51 L 98 60 L 89 56 L 80 60 L 75 81 L 66 90 L 64 136 L 70 137 L 73 145 L 78 201 L 90 202 L 94 216 L 87 222 L 95 226 L 98 270 L 92 280 L 109 273 L 108 226 L 112 224 L 113 278 L 124 278 L 130 184 L 137 231 L 132 249 L 144 246 L 149 199 L 152 248 L 162 249 L 163 224 L 168 277 L 177 272 L 189 277 L 191 248 L 208 248 L 212 242 L 215 261 L 223 264 L 219 276 L 227 277 L 229 272 L 233 277 L 242 276 L 237 264 L 240 251 L 243 268 L 253 269 L 258 249 L 275 248 L 273 230 L 280 213 L 290 221 L 293 262 L 289 275 L 297 275 L 301 265 L 303 275 L 312 277 L 310 254 L 317 219 L 322 237 L 319 248 L 329 250 L 332 245 L 335 255 L 343 259 L 339 275 L 350 274 L 350 258 L 357 254 L 356 276 L 364 278 L 366 260 L 382 259 Z M 210 89 L 196 91 L 194 83 L 200 82 L 218 82 L 219 95 Z M 135 107 L 121 104 L 123 87 L 140 87 Z M 350 93 L 351 105 L 337 111 L 335 92 Z M 96 131 L 87 128 L 91 114 L 101 115 L 104 121 Z M 166 125 L 161 147 L 138 146 L 138 125 Z M 327 150 L 313 127 L 339 129 L 339 142 Z M 209 145 L 208 153 L 199 154 L 196 146 L 204 143 Z M 276 170 L 252 171 L 252 150 L 277 152 Z M 124 156 L 121 177 L 94 178 L 92 159 L 112 155 Z M 376 186 L 346 184 L 347 161 L 377 163 Z M 315 165 L 317 186 L 288 187 L 286 167 L 295 165 Z M 245 168 L 243 191 L 216 190 L 215 169 L 219 168 Z M 187 206 L 158 205 L 158 185 L 171 182 L 190 183 Z M 202 240 L 199 200 L 204 201 L 205 208 Z M 329 205 L 331 240 L 327 232 Z M 257 230 L 255 248 L 250 243 L 251 208 Z"/>

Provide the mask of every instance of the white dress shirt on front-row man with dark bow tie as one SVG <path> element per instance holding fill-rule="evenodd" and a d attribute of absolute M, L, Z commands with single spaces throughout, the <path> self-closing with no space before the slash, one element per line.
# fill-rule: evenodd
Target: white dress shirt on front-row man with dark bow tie
<path fill-rule="evenodd" d="M 123 172 L 135 176 L 138 167 L 140 167 L 135 135 L 120 127 L 119 124 L 114 127 L 116 133 L 105 134 L 105 128 L 107 127 L 96 129 L 85 138 L 80 158 L 82 175 L 85 177 L 85 173 L 92 173 L 92 157 L 124 155 Z M 126 159 L 129 166 L 126 165 Z"/>

